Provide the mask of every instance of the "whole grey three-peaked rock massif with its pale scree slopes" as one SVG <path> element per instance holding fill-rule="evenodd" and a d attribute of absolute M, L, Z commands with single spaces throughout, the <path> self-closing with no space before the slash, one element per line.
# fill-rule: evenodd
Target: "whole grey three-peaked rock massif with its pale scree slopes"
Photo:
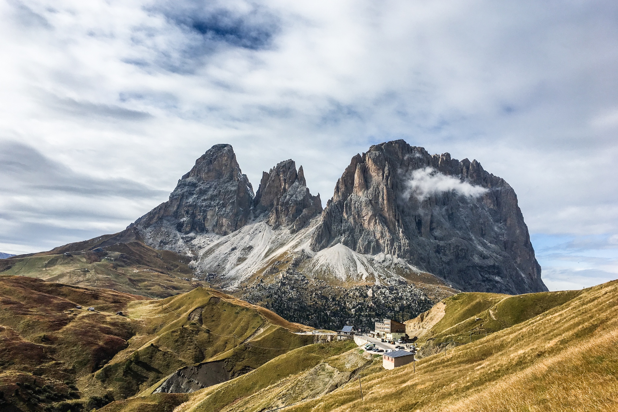
<path fill-rule="evenodd" d="M 232 147 L 213 146 L 134 228 L 228 290 L 289 269 L 331 284 L 431 274 L 459 290 L 546 290 L 517 195 L 477 161 L 404 140 L 371 146 L 324 211 L 292 160 L 251 187 Z"/>

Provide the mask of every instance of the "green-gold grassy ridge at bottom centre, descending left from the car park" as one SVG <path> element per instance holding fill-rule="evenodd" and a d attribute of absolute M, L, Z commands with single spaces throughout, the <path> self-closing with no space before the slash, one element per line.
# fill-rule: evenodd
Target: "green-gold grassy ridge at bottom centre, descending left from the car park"
<path fill-rule="evenodd" d="M 155 393 L 111 403 L 103 412 L 129 412 L 159 403 L 184 403 L 176 412 L 259 411 L 282 406 L 282 402 L 318 397 L 345 384 L 352 375 L 372 363 L 352 340 L 316 343 L 277 356 L 236 379 L 190 393 Z M 162 395 L 166 395 L 162 396 Z"/>

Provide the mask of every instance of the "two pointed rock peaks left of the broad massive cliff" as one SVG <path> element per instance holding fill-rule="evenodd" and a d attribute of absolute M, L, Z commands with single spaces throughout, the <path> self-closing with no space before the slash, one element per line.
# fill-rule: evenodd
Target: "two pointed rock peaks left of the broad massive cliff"
<path fill-rule="evenodd" d="M 255 221 L 294 233 L 321 211 L 320 195 L 311 195 L 302 166 L 297 171 L 294 161 L 281 162 L 264 172 L 254 198 L 232 146 L 214 145 L 178 181 L 169 201 L 140 217 L 122 234 L 137 230 L 140 240 L 155 248 L 192 253 L 216 240 L 217 235 L 229 235 Z"/>

